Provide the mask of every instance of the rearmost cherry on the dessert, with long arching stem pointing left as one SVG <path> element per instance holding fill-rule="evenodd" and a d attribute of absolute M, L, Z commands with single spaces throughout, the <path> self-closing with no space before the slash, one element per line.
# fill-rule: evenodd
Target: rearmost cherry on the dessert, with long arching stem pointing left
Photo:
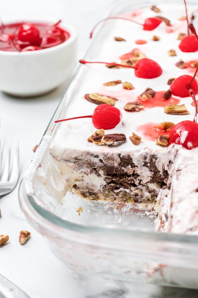
<path fill-rule="evenodd" d="M 129 21 L 129 22 L 132 22 L 132 23 L 135 23 L 135 24 L 138 24 L 138 25 L 142 25 L 143 26 L 143 30 L 146 30 L 146 31 L 152 31 L 154 30 L 155 28 L 157 28 L 159 26 L 159 24 L 161 24 L 161 20 L 159 18 L 147 18 L 145 19 L 144 21 L 144 24 L 141 24 L 141 23 L 138 23 L 136 21 L 133 21 L 129 18 L 123 18 L 123 17 L 108 17 L 108 18 L 104 18 L 102 20 L 100 20 L 95 26 L 94 28 L 92 29 L 91 33 L 90 33 L 90 38 L 92 38 L 92 35 L 93 35 L 93 32 L 94 30 L 96 29 L 96 27 L 104 22 L 104 21 L 107 21 L 107 20 L 112 20 L 112 19 L 119 19 L 119 20 L 125 20 L 125 21 Z"/>

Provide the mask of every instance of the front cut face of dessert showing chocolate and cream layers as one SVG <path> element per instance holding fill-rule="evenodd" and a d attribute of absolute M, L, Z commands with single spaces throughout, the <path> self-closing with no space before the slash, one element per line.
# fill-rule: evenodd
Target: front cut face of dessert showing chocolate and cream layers
<path fill-rule="evenodd" d="M 73 193 L 90 200 L 147 205 L 155 203 L 166 186 L 175 150 L 166 156 L 148 148 L 125 154 L 66 150 L 61 160 L 54 157 Z"/>

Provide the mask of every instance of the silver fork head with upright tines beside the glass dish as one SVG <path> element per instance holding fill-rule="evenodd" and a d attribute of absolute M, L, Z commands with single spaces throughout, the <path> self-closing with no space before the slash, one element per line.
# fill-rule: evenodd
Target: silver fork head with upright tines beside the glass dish
<path fill-rule="evenodd" d="M 13 143 L 10 139 L 7 150 L 6 162 L 3 170 L 2 156 L 4 151 L 4 139 L 0 145 L 0 195 L 10 193 L 16 186 L 19 177 L 19 145 L 18 140 Z M 11 166 L 11 152 L 13 153 L 13 163 Z"/>

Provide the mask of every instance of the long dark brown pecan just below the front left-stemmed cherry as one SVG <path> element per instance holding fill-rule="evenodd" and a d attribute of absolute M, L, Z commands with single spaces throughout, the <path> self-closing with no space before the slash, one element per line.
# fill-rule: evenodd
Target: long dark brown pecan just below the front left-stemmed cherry
<path fill-rule="evenodd" d="M 92 141 L 95 145 L 116 146 L 126 142 L 125 134 L 105 134 L 104 136 L 94 136 Z"/>

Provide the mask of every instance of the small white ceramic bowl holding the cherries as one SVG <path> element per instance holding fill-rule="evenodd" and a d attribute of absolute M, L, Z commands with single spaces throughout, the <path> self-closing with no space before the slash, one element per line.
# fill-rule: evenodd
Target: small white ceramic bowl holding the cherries
<path fill-rule="evenodd" d="M 38 20 L 31 19 L 31 22 L 35 21 Z M 60 27 L 70 33 L 69 39 L 62 44 L 38 51 L 0 51 L 1 91 L 21 97 L 36 96 L 53 90 L 72 77 L 77 58 L 77 32 L 70 24 L 61 23 Z"/>

